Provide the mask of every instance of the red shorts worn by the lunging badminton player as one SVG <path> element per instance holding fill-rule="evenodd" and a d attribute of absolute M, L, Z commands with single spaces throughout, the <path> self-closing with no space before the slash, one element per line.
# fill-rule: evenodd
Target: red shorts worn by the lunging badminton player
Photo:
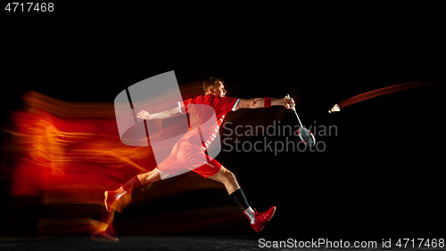
<path fill-rule="evenodd" d="M 157 168 L 162 173 L 170 174 L 169 177 L 193 171 L 207 178 L 217 174 L 221 166 L 219 161 L 206 155 L 201 147 L 186 140 L 180 140 L 173 147 L 169 157 L 164 159 Z"/>

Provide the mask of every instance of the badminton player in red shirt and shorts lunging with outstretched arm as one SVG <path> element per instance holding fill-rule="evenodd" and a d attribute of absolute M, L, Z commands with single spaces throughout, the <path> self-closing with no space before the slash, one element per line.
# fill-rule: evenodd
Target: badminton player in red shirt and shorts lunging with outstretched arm
<path fill-rule="evenodd" d="M 256 98 L 244 100 L 230 98 L 226 97 L 227 92 L 223 84 L 222 79 L 210 77 L 203 83 L 204 95 L 183 101 L 183 104 L 179 103 L 175 109 L 155 114 L 145 110 L 138 112 L 137 117 L 143 119 L 162 119 L 187 114 L 189 116 L 189 132 L 173 147 L 170 156 L 155 169 L 145 174 L 136 175 L 118 190 L 105 191 L 104 204 L 109 212 L 122 195 L 132 192 L 136 187 L 165 179 L 169 175 L 178 174 L 181 171 L 184 173 L 185 170 L 191 170 L 204 178 L 223 183 L 229 196 L 248 217 L 254 231 L 259 232 L 263 229 L 274 215 L 276 206 L 272 206 L 263 213 L 254 211 L 244 197 L 244 191 L 241 190 L 235 175 L 219 164 L 217 160 L 208 156 L 206 150 L 215 139 L 215 135 L 219 134 L 219 127 L 227 112 L 237 109 L 268 108 L 270 106 L 284 106 L 286 109 L 291 109 L 294 101 L 293 99 Z M 210 109 L 205 109 L 206 107 Z M 209 116 L 209 114 L 215 114 L 216 119 L 213 122 L 211 118 L 213 116 Z M 209 123 L 210 121 L 211 123 Z"/>

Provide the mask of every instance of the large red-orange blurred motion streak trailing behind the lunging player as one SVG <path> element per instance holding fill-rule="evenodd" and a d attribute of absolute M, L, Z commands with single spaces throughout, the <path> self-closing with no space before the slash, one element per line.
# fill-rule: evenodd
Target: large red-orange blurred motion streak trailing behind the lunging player
<path fill-rule="evenodd" d="M 43 195 L 44 204 L 103 203 L 101 190 L 155 167 L 150 149 L 120 142 L 112 104 L 77 105 L 35 92 L 24 101 L 25 111 L 13 111 L 4 130 L 12 136 L 4 156 L 13 158 L 13 196 Z"/>

